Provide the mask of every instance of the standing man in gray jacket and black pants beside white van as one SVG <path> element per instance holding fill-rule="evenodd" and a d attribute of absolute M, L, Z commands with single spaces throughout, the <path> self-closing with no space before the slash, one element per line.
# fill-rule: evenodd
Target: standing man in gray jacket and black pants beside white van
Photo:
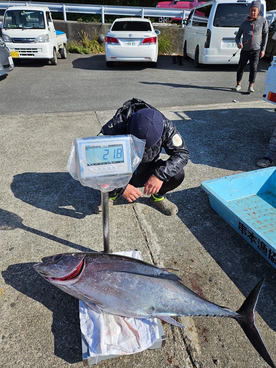
<path fill-rule="evenodd" d="M 243 71 L 249 60 L 250 73 L 247 92 L 254 92 L 253 86 L 258 62 L 265 54 L 265 46 L 268 40 L 268 21 L 259 15 L 260 9 L 261 0 L 252 1 L 249 17 L 240 25 L 235 38 L 238 49 L 241 49 L 241 54 L 238 62 L 237 85 L 234 91 L 241 89 L 241 78 L 243 78 Z M 241 36 L 243 36 L 243 42 L 241 42 Z"/>

